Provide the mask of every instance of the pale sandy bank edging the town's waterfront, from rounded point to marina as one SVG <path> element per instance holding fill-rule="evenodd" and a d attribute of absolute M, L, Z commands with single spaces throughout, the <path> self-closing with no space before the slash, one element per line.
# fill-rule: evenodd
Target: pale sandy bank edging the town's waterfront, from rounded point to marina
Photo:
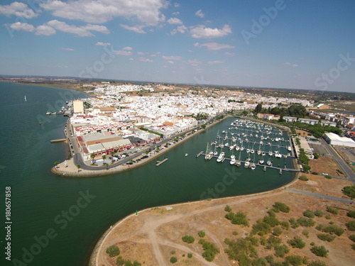
<path fill-rule="evenodd" d="M 61 162 L 57 166 L 52 167 L 50 169 L 50 172 L 52 172 L 53 174 L 60 175 L 62 177 L 96 177 L 96 176 L 117 174 L 117 173 L 120 173 L 120 172 L 133 170 L 136 167 L 141 167 L 142 165 L 145 165 L 146 163 L 151 162 L 152 160 L 156 159 L 160 155 L 168 152 L 169 150 L 175 148 L 176 146 L 180 145 L 181 143 L 185 142 L 186 140 L 192 138 L 195 135 L 198 135 L 199 133 L 202 133 L 207 128 L 210 128 L 212 126 L 217 125 L 217 123 L 220 123 L 220 122 L 224 121 L 224 119 L 229 118 L 229 117 L 232 117 L 232 116 L 224 116 L 223 119 L 219 119 L 217 121 L 214 121 L 213 123 L 207 125 L 206 128 L 200 129 L 200 130 L 198 130 L 198 131 L 196 131 L 196 132 L 194 132 L 194 133 L 192 133 L 190 135 L 187 135 L 182 140 L 179 140 L 178 143 L 173 143 L 172 145 L 169 145 L 168 148 L 164 148 L 163 150 L 160 150 L 159 153 L 150 153 L 150 156 L 148 158 L 146 158 L 144 160 L 141 160 L 140 162 L 133 163 L 133 165 L 120 165 L 119 162 L 116 162 L 116 164 L 117 164 L 116 167 L 111 167 L 111 168 L 97 167 L 97 170 L 84 170 L 84 169 L 81 169 L 81 167 L 78 169 L 77 166 L 74 163 L 74 159 L 71 158 L 70 160 L 66 160 L 64 162 Z M 174 137 L 175 136 L 170 137 L 170 138 L 173 139 Z M 156 144 L 159 145 L 159 143 L 156 143 Z M 131 160 L 135 160 L 136 158 L 141 157 L 142 156 L 141 154 L 142 153 L 146 153 L 148 148 L 150 148 L 150 146 L 148 146 L 148 147 L 144 148 L 143 150 L 141 150 L 139 152 L 139 154 L 137 153 L 137 155 L 135 157 L 131 157 Z M 195 155 L 189 155 L 189 156 L 195 156 Z M 102 168 L 102 169 L 100 169 L 100 168 Z"/>

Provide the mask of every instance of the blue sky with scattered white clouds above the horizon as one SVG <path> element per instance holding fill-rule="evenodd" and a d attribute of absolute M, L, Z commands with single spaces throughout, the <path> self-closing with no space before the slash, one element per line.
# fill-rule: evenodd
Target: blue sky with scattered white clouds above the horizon
<path fill-rule="evenodd" d="M 353 0 L 0 3 L 0 74 L 355 91 Z"/>

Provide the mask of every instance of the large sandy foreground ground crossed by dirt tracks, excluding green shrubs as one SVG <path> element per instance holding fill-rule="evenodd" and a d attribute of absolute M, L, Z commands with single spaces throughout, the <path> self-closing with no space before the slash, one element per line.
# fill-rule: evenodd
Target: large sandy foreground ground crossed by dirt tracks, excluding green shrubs
<path fill-rule="evenodd" d="M 297 180 L 290 187 L 347 198 L 342 194 L 341 189 L 351 184 L 350 182 L 342 179 L 326 179 L 312 174 L 307 174 L 307 177 L 310 179 L 309 182 Z M 293 194 L 288 192 L 285 187 L 262 194 L 177 204 L 170 206 L 171 209 L 167 209 L 166 206 L 148 209 L 141 211 L 138 216 L 132 214 L 116 224 L 97 248 L 97 256 L 93 256 L 94 260 L 92 260 L 91 265 L 115 265 L 116 257 L 110 258 L 105 253 L 106 248 L 110 245 L 117 245 L 121 250 L 120 255 L 125 259 L 138 260 L 142 265 L 147 266 L 170 265 L 169 260 L 173 256 L 178 258 L 178 262 L 174 265 L 238 265 L 238 262 L 229 260 L 228 255 L 224 253 L 224 249 L 227 248 L 224 239 L 244 238 L 251 232 L 251 226 L 242 227 L 231 224 L 229 220 L 224 218 L 226 214 L 224 207 L 228 204 L 235 213 L 244 211 L 252 225 L 266 215 L 275 201 L 281 201 L 290 206 L 290 213 L 276 214 L 280 221 L 300 218 L 303 216 L 302 212 L 306 209 L 321 210 L 324 215 L 314 218 L 317 225 L 334 223 L 335 226 L 342 227 L 345 230 L 345 224 L 351 221 L 351 218 L 346 216 L 346 212 L 350 209 L 355 210 L 354 205 Z M 327 206 L 338 207 L 340 209 L 339 214 L 328 213 Z M 331 218 L 327 219 L 326 216 Z M 207 262 L 202 257 L 202 245 L 198 243 L 200 237 L 197 235 L 197 232 L 201 230 L 206 233 L 204 239 L 214 243 L 220 250 L 213 262 Z M 308 237 L 302 234 L 305 230 L 309 232 Z M 317 231 L 315 226 L 311 228 L 300 226 L 295 229 L 290 228 L 289 231 L 283 231 L 279 238 L 283 244 L 290 248 L 288 255 L 300 255 L 307 257 L 309 261 L 322 260 L 328 266 L 354 265 L 355 252 L 351 249 L 352 241 L 349 240 L 349 236 L 354 232 L 346 230 L 343 235 L 337 236 L 331 243 L 317 238 L 317 233 L 320 233 L 320 231 Z M 195 242 L 192 244 L 182 242 L 183 235 L 194 236 Z M 306 243 L 302 250 L 294 249 L 287 243 L 288 239 L 296 235 L 300 236 Z M 260 237 L 257 235 L 257 238 Z M 328 256 L 317 257 L 311 253 L 311 243 L 324 245 L 329 250 Z M 256 247 L 256 250 L 258 257 L 274 255 L 273 249 L 267 250 L 263 245 Z M 192 254 L 192 258 L 187 257 L 188 253 Z M 275 261 L 281 262 L 283 260 L 275 257 Z"/>

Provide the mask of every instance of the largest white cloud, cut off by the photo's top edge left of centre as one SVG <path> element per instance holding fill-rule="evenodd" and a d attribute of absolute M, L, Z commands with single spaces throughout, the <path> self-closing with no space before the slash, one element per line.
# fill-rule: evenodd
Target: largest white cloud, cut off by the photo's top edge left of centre
<path fill-rule="evenodd" d="M 156 26 L 160 21 L 164 21 L 165 16 L 160 9 L 166 8 L 164 0 L 49 0 L 40 6 L 60 18 L 106 23 L 121 16 L 145 26 Z"/>

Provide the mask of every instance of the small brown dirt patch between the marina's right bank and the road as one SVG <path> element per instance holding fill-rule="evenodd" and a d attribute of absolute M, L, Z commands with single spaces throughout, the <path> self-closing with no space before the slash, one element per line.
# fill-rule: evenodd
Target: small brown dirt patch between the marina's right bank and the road
<path fill-rule="evenodd" d="M 320 156 L 318 159 L 310 160 L 308 165 L 312 172 L 327 173 L 332 177 L 345 177 L 332 157 Z"/>

